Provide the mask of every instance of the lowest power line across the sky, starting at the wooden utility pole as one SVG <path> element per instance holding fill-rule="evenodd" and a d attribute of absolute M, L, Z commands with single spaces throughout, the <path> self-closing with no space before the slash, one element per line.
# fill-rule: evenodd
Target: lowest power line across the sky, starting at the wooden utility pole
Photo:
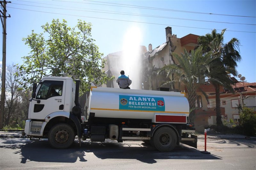
<path fill-rule="evenodd" d="M 19 10 L 26 10 L 26 11 L 35 11 L 35 12 L 50 13 L 50 14 L 68 15 L 68 16 L 74 16 L 74 17 L 97 18 L 97 19 L 107 19 L 107 20 L 114 20 L 114 21 L 124 21 L 124 22 L 134 22 L 134 23 L 143 23 L 143 24 L 154 24 L 154 25 L 177 26 L 177 27 L 185 27 L 185 28 L 197 28 L 197 29 L 213 30 L 213 29 L 211 29 L 211 28 L 200 28 L 200 27 L 190 27 L 190 26 L 181 26 L 181 25 L 170 25 L 170 24 L 158 24 L 158 23 L 149 23 L 149 22 L 140 22 L 140 21 L 129 21 L 129 20 L 110 19 L 110 18 L 99 18 L 99 17 L 88 17 L 88 16 L 71 15 L 71 14 L 62 14 L 62 13 L 55 13 L 55 12 L 45 12 L 45 11 L 27 10 L 27 9 L 14 8 L 14 7 L 9 7 L 9 8 L 19 9 Z M 216 29 L 216 30 L 221 31 L 220 29 Z M 248 33 L 256 33 L 256 32 L 249 32 L 249 31 L 234 31 L 234 30 L 226 30 L 226 31 L 230 31 L 230 32 L 248 32 Z"/>

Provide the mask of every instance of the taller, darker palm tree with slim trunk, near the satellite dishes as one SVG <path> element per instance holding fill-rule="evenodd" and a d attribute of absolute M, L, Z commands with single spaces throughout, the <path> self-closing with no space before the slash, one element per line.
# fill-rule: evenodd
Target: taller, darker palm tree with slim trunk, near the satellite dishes
<path fill-rule="evenodd" d="M 203 52 L 212 52 L 212 57 L 215 58 L 210 64 L 211 79 L 210 82 L 215 86 L 216 93 L 216 123 L 222 125 L 220 111 L 220 85 L 231 89 L 233 82 L 228 78 L 228 73 L 237 75 L 237 62 L 241 60 L 239 53 L 240 42 L 236 38 L 232 38 L 228 43 L 224 43 L 223 29 L 221 33 L 217 33 L 214 29 L 212 33 L 208 33 L 198 38 L 198 44 L 203 48 Z"/>

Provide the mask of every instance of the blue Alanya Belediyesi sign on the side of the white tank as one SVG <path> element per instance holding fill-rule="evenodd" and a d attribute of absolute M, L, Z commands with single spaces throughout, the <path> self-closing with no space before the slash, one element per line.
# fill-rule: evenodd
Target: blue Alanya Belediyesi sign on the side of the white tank
<path fill-rule="evenodd" d="M 119 95 L 119 110 L 165 111 L 164 98 Z"/>

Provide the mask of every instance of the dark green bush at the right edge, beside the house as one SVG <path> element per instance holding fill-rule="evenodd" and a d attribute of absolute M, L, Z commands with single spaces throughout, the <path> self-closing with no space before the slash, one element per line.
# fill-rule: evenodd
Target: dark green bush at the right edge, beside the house
<path fill-rule="evenodd" d="M 248 136 L 256 136 L 256 114 L 254 113 L 254 110 L 243 107 L 239 117 L 239 125 L 243 128 L 244 134 Z"/>

